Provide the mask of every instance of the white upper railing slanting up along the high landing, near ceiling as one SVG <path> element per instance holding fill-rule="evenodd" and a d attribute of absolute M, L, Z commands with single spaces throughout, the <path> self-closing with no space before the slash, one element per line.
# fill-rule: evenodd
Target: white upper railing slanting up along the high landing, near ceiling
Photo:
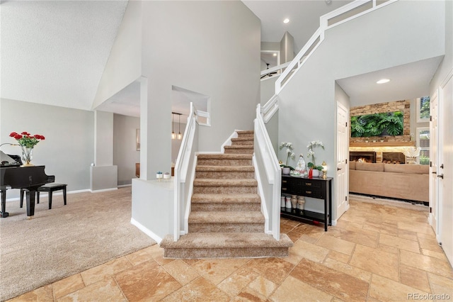
<path fill-rule="evenodd" d="M 325 15 L 319 18 L 319 28 L 316 30 L 314 35 L 308 40 L 308 42 L 302 47 L 302 50 L 294 57 L 294 59 L 287 65 L 280 77 L 275 81 L 275 96 L 271 98 L 264 106 L 263 106 L 263 115 L 265 116 L 265 123 L 267 123 L 270 118 L 277 112 L 278 104 L 277 96 L 282 91 L 283 87 L 290 79 L 294 76 L 294 74 L 299 70 L 304 62 L 308 60 L 308 58 L 313 54 L 316 48 L 321 45 L 324 40 L 324 33 L 326 30 L 333 28 L 334 26 L 338 26 L 342 23 L 348 22 L 354 18 L 360 17 L 365 13 L 370 13 L 375 11 L 376 9 L 380 9 L 388 4 L 392 4 L 398 0 L 355 0 L 346 4 L 345 6 L 336 9 L 335 11 L 331 11 L 330 13 L 326 13 Z M 276 67 L 274 67 L 276 68 Z M 268 72 L 270 69 L 266 69 L 265 71 Z M 264 72 L 264 71 L 263 71 Z M 261 74 L 263 75 L 263 72 Z"/>

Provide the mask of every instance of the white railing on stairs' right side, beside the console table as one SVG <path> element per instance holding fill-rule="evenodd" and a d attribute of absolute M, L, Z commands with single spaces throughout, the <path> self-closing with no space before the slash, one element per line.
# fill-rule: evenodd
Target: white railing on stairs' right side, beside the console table
<path fill-rule="evenodd" d="M 256 107 L 255 131 L 255 166 L 256 174 L 260 179 L 261 203 L 265 216 L 270 218 L 268 223 L 269 230 L 275 240 L 280 240 L 280 188 L 282 186 L 282 169 L 278 164 L 277 156 L 270 142 L 268 130 L 266 130 L 263 116 L 261 116 L 261 106 Z"/>

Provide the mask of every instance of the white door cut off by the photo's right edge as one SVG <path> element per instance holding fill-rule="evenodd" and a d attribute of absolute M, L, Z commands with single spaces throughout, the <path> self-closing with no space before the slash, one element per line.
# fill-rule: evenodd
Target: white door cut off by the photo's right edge
<path fill-rule="evenodd" d="M 439 140 L 440 140 L 440 166 L 437 169 L 439 181 L 439 242 L 447 255 L 450 263 L 453 263 L 453 77 L 449 74 L 445 85 L 440 90 L 440 117 Z"/>

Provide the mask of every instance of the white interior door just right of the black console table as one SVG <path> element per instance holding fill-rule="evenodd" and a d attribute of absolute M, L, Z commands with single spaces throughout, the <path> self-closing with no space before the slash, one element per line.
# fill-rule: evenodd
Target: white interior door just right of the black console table
<path fill-rule="evenodd" d="M 337 102 L 336 220 L 349 208 L 349 131 L 348 108 Z"/>

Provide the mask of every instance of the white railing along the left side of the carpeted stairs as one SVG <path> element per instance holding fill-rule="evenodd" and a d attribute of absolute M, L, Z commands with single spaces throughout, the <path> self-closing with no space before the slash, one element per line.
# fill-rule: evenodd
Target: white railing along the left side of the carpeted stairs
<path fill-rule="evenodd" d="M 197 111 L 193 103 L 190 103 L 190 113 L 175 164 L 174 241 L 177 241 L 180 235 L 188 233 L 190 198 L 193 192 L 193 179 L 197 164 L 196 153 L 198 152 L 197 120 L 200 116 L 205 118 L 205 122 L 210 123 L 210 113 Z"/>

